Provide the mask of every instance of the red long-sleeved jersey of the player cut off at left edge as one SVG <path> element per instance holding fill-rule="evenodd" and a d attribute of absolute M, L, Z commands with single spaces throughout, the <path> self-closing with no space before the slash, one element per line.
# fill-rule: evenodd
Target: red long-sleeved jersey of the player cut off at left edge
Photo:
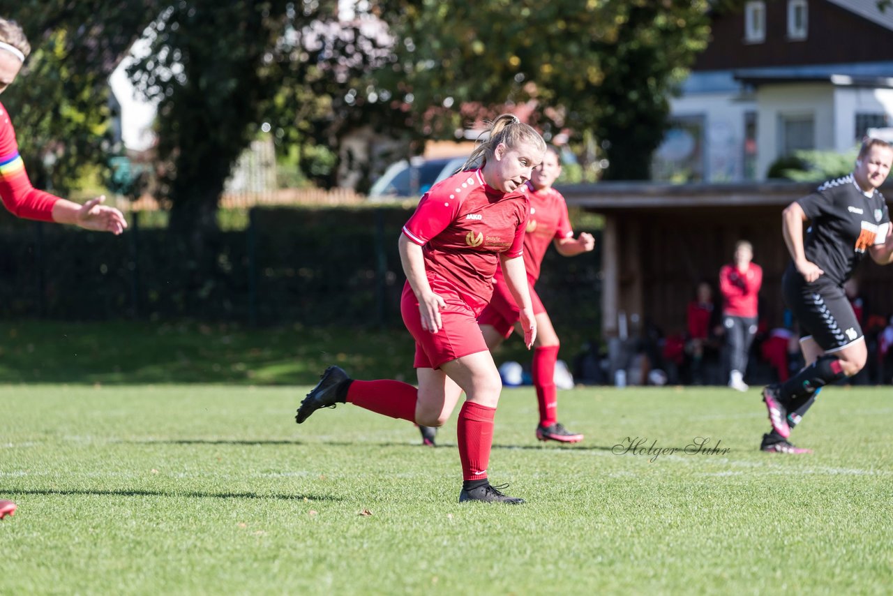
<path fill-rule="evenodd" d="M 0 104 L 0 197 L 10 213 L 42 222 L 53 221 L 53 206 L 59 197 L 31 186 L 19 155 L 13 122 Z"/>

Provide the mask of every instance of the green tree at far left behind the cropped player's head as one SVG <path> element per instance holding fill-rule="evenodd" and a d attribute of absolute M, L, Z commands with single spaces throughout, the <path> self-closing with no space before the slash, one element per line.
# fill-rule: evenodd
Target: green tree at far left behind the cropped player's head
<path fill-rule="evenodd" d="M 71 0 L 23 0 L 4 12 L 32 48 L 3 102 L 36 186 L 65 193 L 114 149 L 108 76 L 148 21 L 148 4 L 123 0 L 96 12 Z"/>

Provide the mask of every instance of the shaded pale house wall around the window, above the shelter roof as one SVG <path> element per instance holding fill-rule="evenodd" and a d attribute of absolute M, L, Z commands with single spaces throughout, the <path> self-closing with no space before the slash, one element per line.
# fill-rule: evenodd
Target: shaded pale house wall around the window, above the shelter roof
<path fill-rule="evenodd" d="M 811 114 L 815 149 L 835 150 L 837 120 L 835 92 L 830 83 L 773 84 L 757 89 L 756 176 L 765 180 L 769 166 L 780 155 L 780 117 Z M 852 130 L 853 120 L 849 119 Z M 851 133 L 852 134 L 852 133 Z M 848 147 L 847 147 L 848 148 Z"/>

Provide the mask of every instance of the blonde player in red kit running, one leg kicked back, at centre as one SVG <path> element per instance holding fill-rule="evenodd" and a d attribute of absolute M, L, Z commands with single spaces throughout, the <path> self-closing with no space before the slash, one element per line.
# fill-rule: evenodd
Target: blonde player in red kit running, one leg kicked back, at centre
<path fill-rule="evenodd" d="M 352 403 L 415 424 L 440 426 L 462 392 L 457 438 L 463 488 L 459 500 L 522 503 L 488 482 L 493 419 L 502 382 L 477 317 L 493 293 L 502 265 L 520 308 L 530 348 L 537 323 L 522 258 L 529 200 L 527 180 L 546 144 L 527 124 L 504 114 L 469 157 L 480 169 L 458 172 L 430 189 L 399 240 L 406 284 L 400 303 L 415 340 L 419 387 L 397 381 L 354 381 L 330 366 L 297 410 L 296 422 L 321 407 Z"/>

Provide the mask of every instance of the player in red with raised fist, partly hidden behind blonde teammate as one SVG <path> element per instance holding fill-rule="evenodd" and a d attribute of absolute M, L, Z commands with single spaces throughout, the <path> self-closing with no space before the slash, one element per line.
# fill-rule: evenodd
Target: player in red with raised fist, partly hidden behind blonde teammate
<path fill-rule="evenodd" d="M 595 248 L 596 240 L 586 232 L 581 233 L 578 239 L 573 238 L 564 197 L 552 188 L 560 175 L 561 160 L 558 151 L 555 147 L 548 147 L 543 163 L 534 168 L 528 182 L 530 218 L 524 234 L 524 267 L 533 303 L 533 315 L 537 322 L 532 367 L 533 386 L 537 390 L 539 403 L 537 438 L 540 441 L 573 443 L 582 441 L 583 435 L 568 431 L 557 419 L 555 363 L 558 360 L 560 342 L 546 307 L 534 290 L 534 284 L 539 278 L 540 266 L 550 244 L 554 244 L 562 256 L 577 256 Z M 521 311 L 508 290 L 502 270 L 497 269 L 493 283 L 493 298 L 478 317 L 480 331 L 491 350 L 507 339 L 521 320 Z M 430 441 L 432 430 L 421 429 L 423 439 Z"/>

